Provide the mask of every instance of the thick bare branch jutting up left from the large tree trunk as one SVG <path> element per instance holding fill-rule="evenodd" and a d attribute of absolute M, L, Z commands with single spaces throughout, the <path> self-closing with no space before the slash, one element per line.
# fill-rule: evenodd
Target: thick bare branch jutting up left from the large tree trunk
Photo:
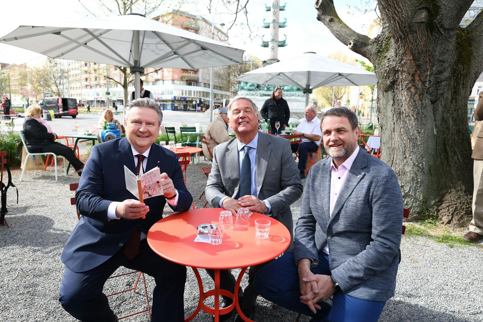
<path fill-rule="evenodd" d="M 372 62 L 373 48 L 368 36 L 355 32 L 347 26 L 337 14 L 333 0 L 317 0 L 317 20 L 321 21 L 330 32 L 355 53 L 364 56 Z"/>

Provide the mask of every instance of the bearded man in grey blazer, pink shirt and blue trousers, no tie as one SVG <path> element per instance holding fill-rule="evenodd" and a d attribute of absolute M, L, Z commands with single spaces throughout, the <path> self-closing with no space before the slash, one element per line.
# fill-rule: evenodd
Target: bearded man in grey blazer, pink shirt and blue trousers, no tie
<path fill-rule="evenodd" d="M 330 158 L 307 177 L 294 253 L 255 278 L 263 297 L 311 321 L 375 322 L 396 288 L 402 194 L 393 170 L 357 145 L 357 124 L 344 107 L 322 117 Z"/>

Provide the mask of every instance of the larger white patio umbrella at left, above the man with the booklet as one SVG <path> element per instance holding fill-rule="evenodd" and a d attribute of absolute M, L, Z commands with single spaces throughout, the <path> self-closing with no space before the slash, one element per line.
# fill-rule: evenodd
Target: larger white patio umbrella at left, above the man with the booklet
<path fill-rule="evenodd" d="M 242 64 L 242 49 L 139 14 L 108 18 L 29 21 L 0 42 L 51 58 L 125 66 L 134 73 L 135 98 L 147 67 L 199 69 Z"/>

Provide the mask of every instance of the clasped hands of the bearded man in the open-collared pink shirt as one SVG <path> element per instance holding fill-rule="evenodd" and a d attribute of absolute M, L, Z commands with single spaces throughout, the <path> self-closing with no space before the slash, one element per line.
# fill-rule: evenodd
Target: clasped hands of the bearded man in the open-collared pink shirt
<path fill-rule="evenodd" d="M 335 293 L 335 285 L 328 275 L 313 274 L 310 270 L 311 260 L 302 258 L 298 261 L 298 277 L 300 283 L 300 302 L 306 304 L 313 313 L 321 309 L 317 302 L 327 300 Z"/>

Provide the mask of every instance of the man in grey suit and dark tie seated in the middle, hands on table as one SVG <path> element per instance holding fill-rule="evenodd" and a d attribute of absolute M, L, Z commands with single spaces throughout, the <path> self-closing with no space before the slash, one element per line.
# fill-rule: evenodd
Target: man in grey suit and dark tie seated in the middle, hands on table
<path fill-rule="evenodd" d="M 236 214 L 240 207 L 265 214 L 282 222 L 292 234 L 290 205 L 302 195 L 302 183 L 290 142 L 280 136 L 258 132 L 258 109 L 245 97 L 233 99 L 227 106 L 228 121 L 236 138 L 214 149 L 213 164 L 206 183 L 206 200 Z M 293 243 L 291 243 L 293 246 Z M 255 251 L 255 250 L 254 250 Z M 265 265 L 250 267 L 249 285 L 241 307 L 253 318 L 257 293 L 253 287 L 256 272 Z M 213 278 L 213 271 L 208 271 Z M 220 272 L 220 286 L 235 290 L 235 278 L 229 270 Z M 220 307 L 231 304 L 224 298 Z M 224 321 L 230 314 L 220 317 Z M 237 316 L 235 321 L 241 321 Z"/>

